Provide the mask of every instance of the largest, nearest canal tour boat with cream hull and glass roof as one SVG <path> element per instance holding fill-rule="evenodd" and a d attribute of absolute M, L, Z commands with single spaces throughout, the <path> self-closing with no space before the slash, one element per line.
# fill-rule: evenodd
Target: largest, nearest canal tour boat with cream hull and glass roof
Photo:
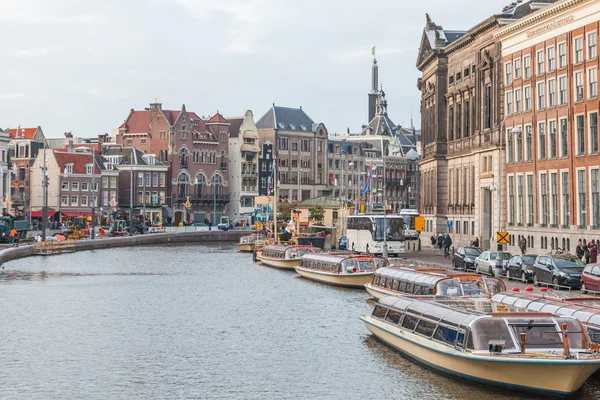
<path fill-rule="evenodd" d="M 600 369 L 578 320 L 496 306 L 388 296 L 361 320 L 378 340 L 435 371 L 506 389 L 568 395 Z"/>

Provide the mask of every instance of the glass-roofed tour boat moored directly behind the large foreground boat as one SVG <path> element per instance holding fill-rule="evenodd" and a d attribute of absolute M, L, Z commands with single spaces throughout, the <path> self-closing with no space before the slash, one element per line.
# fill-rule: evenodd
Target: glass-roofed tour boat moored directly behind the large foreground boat
<path fill-rule="evenodd" d="M 377 299 L 408 295 L 491 297 L 505 291 L 506 285 L 499 279 L 443 268 L 386 267 L 378 269 L 365 288 Z"/>

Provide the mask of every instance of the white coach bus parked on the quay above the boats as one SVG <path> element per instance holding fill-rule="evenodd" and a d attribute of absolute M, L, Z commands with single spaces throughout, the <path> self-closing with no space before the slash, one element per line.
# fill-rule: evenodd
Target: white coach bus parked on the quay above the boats
<path fill-rule="evenodd" d="M 388 255 L 401 254 L 404 253 L 404 230 L 404 219 L 399 215 L 351 215 L 346 226 L 347 246 L 353 252 L 382 255 L 385 234 Z"/>

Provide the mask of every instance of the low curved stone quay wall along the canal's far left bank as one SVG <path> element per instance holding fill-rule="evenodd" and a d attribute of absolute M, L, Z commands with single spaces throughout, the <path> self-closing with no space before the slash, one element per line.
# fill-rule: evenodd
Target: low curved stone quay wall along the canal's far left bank
<path fill-rule="evenodd" d="M 210 244 L 218 242 L 237 243 L 242 236 L 250 234 L 249 231 L 203 231 L 203 232 L 178 232 L 156 233 L 137 236 L 114 237 L 94 240 L 78 240 L 75 251 L 111 249 L 114 247 L 134 246 L 186 246 L 194 244 Z M 11 247 L 0 251 L 0 265 L 10 260 L 29 257 L 33 255 L 35 245 Z"/>

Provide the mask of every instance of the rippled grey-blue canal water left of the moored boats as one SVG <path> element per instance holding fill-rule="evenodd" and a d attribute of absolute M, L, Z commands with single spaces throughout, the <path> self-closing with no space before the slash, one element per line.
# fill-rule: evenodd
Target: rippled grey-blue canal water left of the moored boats
<path fill-rule="evenodd" d="M 378 343 L 363 291 L 235 246 L 139 247 L 0 269 L 0 399 L 515 399 Z M 577 399 L 600 398 L 600 379 Z"/>

